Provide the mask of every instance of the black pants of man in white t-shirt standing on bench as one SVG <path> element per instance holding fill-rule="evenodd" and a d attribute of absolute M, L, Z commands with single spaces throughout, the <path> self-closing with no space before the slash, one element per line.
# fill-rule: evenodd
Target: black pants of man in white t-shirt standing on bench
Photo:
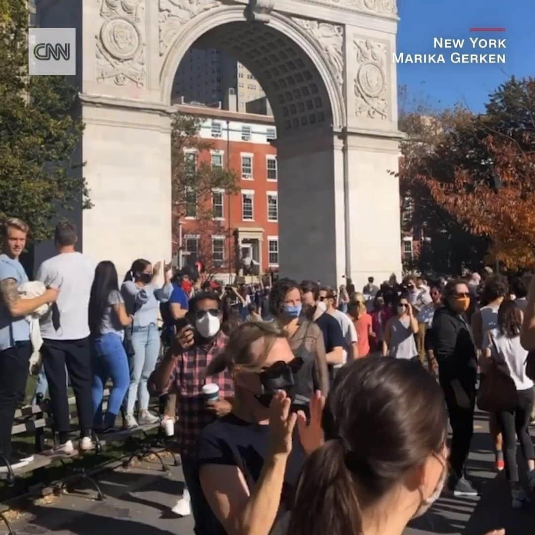
<path fill-rule="evenodd" d="M 89 338 L 81 340 L 43 340 L 41 348 L 44 371 L 47 375 L 48 390 L 56 431 L 69 430 L 69 410 L 67 399 L 68 376 L 76 396 L 76 407 L 82 436 L 90 433 L 93 427 L 93 402 L 91 401 L 91 353 Z"/>

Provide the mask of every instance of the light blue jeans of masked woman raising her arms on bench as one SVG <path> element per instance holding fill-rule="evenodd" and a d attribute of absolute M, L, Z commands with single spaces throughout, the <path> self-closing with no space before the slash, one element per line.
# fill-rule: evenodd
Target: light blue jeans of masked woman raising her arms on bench
<path fill-rule="evenodd" d="M 134 327 L 132 331 L 134 356 L 130 367 L 130 387 L 126 399 L 126 413 L 133 414 L 137 400 L 139 410 L 149 408 L 147 381 L 156 368 L 160 350 L 158 327 L 151 323 L 146 327 Z"/>

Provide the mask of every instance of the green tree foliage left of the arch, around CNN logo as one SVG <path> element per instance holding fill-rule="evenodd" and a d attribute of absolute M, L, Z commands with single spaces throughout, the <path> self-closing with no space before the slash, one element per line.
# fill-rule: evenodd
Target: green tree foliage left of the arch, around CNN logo
<path fill-rule="evenodd" d="M 20 217 L 42 240 L 59 213 L 90 203 L 76 169 L 77 90 L 65 77 L 28 77 L 25 4 L 0 0 L 0 219 Z"/>

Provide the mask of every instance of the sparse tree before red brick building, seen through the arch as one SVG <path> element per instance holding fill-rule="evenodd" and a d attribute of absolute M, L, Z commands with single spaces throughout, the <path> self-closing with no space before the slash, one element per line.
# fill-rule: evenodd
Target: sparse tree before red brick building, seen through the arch
<path fill-rule="evenodd" d="M 178 248 L 178 232 L 181 219 L 193 216 L 201 221 L 205 230 L 220 233 L 223 227 L 213 218 L 212 190 L 223 189 L 225 195 L 238 192 L 238 175 L 221 167 L 212 167 L 210 149 L 213 143 L 199 136 L 201 120 L 181 113 L 175 114 L 171 134 L 171 183 L 173 205 L 173 244 Z M 204 154 L 208 161 L 201 160 Z M 217 227 L 217 228 L 214 228 Z M 211 251 L 210 251 L 211 255 Z M 207 262 L 207 259 L 204 259 Z"/>

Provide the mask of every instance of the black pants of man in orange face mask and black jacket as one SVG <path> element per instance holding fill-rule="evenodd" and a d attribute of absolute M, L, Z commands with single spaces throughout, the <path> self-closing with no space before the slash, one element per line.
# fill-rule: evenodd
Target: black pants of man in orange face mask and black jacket
<path fill-rule="evenodd" d="M 444 391 L 448 408 L 449 423 L 453 437 L 449 463 L 457 478 L 463 476 L 464 465 L 470 453 L 473 435 L 473 409 L 476 404 L 477 371 L 472 368 L 462 370 L 456 376 L 440 373 L 440 386 Z"/>

